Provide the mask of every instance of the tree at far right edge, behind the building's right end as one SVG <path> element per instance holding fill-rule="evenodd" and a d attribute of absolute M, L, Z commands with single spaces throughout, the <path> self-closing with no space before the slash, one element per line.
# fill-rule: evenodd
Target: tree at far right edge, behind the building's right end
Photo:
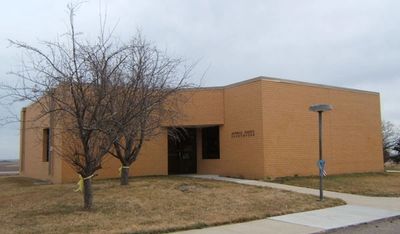
<path fill-rule="evenodd" d="M 390 121 L 382 121 L 382 146 L 385 162 L 389 160 L 390 151 L 394 150 L 394 146 L 399 138 L 399 129 Z"/>

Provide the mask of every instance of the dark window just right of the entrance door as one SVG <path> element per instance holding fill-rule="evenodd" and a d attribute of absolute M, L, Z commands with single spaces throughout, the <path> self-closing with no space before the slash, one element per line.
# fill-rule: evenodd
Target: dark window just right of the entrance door
<path fill-rule="evenodd" d="M 203 128 L 203 159 L 219 159 L 219 126 Z"/>

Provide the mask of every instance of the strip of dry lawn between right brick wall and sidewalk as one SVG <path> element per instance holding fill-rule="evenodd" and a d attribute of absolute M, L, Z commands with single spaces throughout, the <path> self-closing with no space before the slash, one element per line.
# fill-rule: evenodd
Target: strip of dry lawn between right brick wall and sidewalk
<path fill-rule="evenodd" d="M 319 177 L 283 177 L 273 182 L 319 188 Z M 367 196 L 399 197 L 400 173 L 360 173 L 324 177 L 324 189 Z"/>

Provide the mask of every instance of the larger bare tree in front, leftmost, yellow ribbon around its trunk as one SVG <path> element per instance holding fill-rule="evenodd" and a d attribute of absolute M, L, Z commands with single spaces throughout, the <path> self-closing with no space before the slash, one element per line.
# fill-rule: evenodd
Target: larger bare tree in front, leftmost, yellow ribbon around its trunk
<path fill-rule="evenodd" d="M 29 100 L 41 107 L 69 139 L 59 149 L 62 158 L 81 177 L 84 208 L 93 204 L 92 178 L 117 137 L 113 122 L 112 79 L 122 74 L 127 47 L 115 45 L 102 30 L 91 43 L 75 31 L 76 6 L 70 5 L 69 32 L 59 41 L 43 42 L 46 50 L 10 41 L 26 52 L 28 62 L 14 74 L 17 85 L 2 85 L 15 101 Z"/>

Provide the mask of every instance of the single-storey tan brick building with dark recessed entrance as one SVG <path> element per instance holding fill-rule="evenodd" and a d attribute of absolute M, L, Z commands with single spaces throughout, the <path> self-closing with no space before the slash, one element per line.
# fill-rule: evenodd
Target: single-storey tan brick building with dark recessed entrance
<path fill-rule="evenodd" d="M 164 126 L 161 135 L 144 144 L 131 166 L 132 176 L 316 175 L 317 114 L 308 110 L 316 103 L 334 107 L 324 113 L 328 174 L 383 171 L 378 93 L 268 77 L 183 92 L 190 100 L 179 125 L 186 128 L 187 137 L 172 141 Z M 49 119 L 32 121 L 39 111 L 36 104 L 22 110 L 21 174 L 54 183 L 75 181 L 76 173 L 51 150 L 68 139 L 49 136 Z M 118 177 L 119 166 L 109 157 L 96 178 Z"/>

